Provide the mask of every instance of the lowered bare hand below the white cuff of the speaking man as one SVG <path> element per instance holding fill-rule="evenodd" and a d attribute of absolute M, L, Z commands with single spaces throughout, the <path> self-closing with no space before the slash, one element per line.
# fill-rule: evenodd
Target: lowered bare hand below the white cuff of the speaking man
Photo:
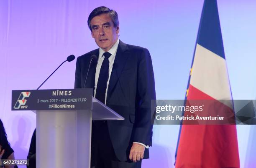
<path fill-rule="evenodd" d="M 145 151 L 145 147 L 143 145 L 138 143 L 133 143 L 130 150 L 129 159 L 132 160 L 133 162 L 140 161 L 141 159 L 143 159 L 144 151 Z"/>

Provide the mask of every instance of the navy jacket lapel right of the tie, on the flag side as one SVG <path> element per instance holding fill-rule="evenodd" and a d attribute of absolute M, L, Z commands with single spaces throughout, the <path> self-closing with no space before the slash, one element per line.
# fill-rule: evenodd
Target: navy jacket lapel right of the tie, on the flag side
<path fill-rule="evenodd" d="M 128 47 L 121 40 L 119 41 L 118 50 L 115 55 L 115 61 L 112 68 L 110 80 L 108 83 L 107 102 L 113 93 L 113 89 L 122 73 L 126 60 L 129 56 Z"/>

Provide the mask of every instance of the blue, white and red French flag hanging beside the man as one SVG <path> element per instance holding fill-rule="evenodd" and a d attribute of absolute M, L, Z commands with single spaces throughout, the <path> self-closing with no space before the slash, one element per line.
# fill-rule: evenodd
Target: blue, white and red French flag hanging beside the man
<path fill-rule="evenodd" d="M 204 1 L 186 99 L 232 100 L 216 0 Z M 239 168 L 236 125 L 181 125 L 175 167 Z"/>

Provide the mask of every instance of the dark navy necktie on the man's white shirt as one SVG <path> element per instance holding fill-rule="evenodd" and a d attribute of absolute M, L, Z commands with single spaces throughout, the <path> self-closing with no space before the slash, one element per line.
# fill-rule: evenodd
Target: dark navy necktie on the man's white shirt
<path fill-rule="evenodd" d="M 95 97 L 100 100 L 102 103 L 105 104 L 105 94 L 107 89 L 107 82 L 108 82 L 108 69 L 109 69 L 109 60 L 110 53 L 106 52 L 103 54 L 104 60 L 102 62 L 101 68 L 100 68 L 100 75 L 97 83 L 97 89 L 96 89 L 96 95 Z"/>

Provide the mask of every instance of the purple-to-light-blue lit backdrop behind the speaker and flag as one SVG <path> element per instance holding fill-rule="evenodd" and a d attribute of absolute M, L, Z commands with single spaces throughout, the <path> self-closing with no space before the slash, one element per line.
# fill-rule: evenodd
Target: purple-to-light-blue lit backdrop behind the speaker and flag
<path fill-rule="evenodd" d="M 70 54 L 97 48 L 90 12 L 115 9 L 120 40 L 151 53 L 157 99 L 184 99 L 203 0 L 0 0 L 0 118 L 15 158 L 28 154 L 36 115 L 11 111 L 11 90 L 36 89 Z M 256 98 L 256 1 L 219 0 L 223 43 L 234 99 Z M 75 60 L 41 89 L 73 88 Z M 238 125 L 241 168 L 256 165 L 255 125 Z M 172 168 L 179 125 L 154 125 L 143 168 Z M 189 139 L 188 139 L 189 140 Z"/>

